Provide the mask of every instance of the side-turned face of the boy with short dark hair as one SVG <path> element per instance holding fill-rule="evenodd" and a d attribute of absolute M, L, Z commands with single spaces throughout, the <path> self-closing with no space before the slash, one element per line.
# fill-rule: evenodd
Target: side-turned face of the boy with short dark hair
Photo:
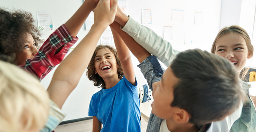
<path fill-rule="evenodd" d="M 170 81 L 171 80 L 171 81 Z M 178 107 L 172 107 L 173 86 L 179 81 L 172 73 L 170 67 L 163 73 L 163 77 L 159 82 L 153 83 L 153 98 L 151 104 L 152 113 L 162 119 L 171 119 L 173 113 Z"/>

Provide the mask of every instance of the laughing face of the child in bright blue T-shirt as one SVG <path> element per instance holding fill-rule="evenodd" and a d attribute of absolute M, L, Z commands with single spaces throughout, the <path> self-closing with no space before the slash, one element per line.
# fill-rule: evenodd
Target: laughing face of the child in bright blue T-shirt
<path fill-rule="evenodd" d="M 118 78 L 115 55 L 108 48 L 99 49 L 94 59 L 95 74 L 105 78 Z"/>

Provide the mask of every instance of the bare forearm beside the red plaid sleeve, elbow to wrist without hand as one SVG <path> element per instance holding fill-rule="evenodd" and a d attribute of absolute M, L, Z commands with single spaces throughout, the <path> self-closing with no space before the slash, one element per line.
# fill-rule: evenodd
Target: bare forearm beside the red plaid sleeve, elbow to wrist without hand
<path fill-rule="evenodd" d="M 93 25 L 89 33 L 56 69 L 48 88 L 50 99 L 62 107 L 68 95 L 75 89 L 86 69 L 101 34 L 106 27 Z"/>

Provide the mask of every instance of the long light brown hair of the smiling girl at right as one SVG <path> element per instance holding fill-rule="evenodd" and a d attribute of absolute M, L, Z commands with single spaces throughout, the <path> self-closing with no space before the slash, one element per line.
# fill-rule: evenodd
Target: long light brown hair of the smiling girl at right
<path fill-rule="evenodd" d="M 251 54 L 251 57 L 252 57 L 252 55 L 253 55 L 253 46 L 252 46 L 252 43 L 251 43 L 251 39 L 250 39 L 248 33 L 246 32 L 246 30 L 243 29 L 242 27 L 238 26 L 238 25 L 232 25 L 232 26 L 225 27 L 225 28 L 221 29 L 221 31 L 217 34 L 217 36 L 216 36 L 216 38 L 215 38 L 215 40 L 212 44 L 211 52 L 213 54 L 215 54 L 217 41 L 222 36 L 224 36 L 225 34 L 228 34 L 228 33 L 237 33 L 238 35 L 243 37 L 243 39 L 246 41 L 246 45 L 247 45 L 247 48 L 248 48 L 248 53 Z M 242 80 L 245 79 L 245 76 L 246 76 L 248 70 L 249 70 L 249 68 L 244 68 L 243 70 L 241 70 L 240 78 Z"/>

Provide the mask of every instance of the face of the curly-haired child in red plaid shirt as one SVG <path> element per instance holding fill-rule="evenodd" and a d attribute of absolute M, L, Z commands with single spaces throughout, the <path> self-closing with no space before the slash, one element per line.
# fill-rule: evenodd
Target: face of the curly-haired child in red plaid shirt
<path fill-rule="evenodd" d="M 23 45 L 22 51 L 16 53 L 15 61 L 17 65 L 25 65 L 26 59 L 34 58 L 37 54 L 38 49 L 35 45 L 35 41 L 30 33 L 26 34 L 25 44 Z"/>

